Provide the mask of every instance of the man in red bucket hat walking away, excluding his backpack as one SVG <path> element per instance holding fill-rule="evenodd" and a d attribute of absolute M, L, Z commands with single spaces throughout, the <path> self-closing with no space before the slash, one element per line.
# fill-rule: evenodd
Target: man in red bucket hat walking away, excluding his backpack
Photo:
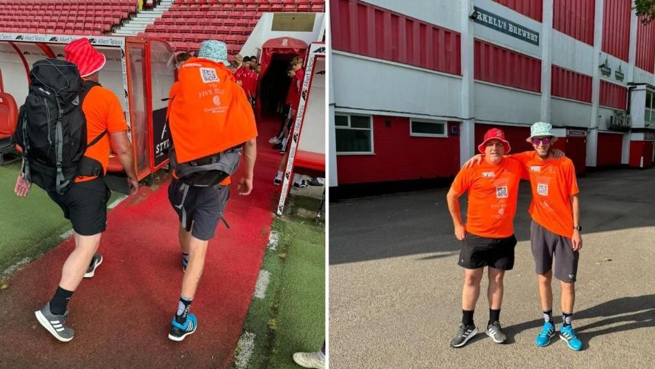
<path fill-rule="evenodd" d="M 110 191 L 104 174 L 109 164 L 110 149 L 116 153 L 127 173 L 130 194 L 136 193 L 139 187 L 121 103 L 111 91 L 98 83 L 99 70 L 106 62 L 105 56 L 95 50 L 86 38 L 70 42 L 65 55 L 67 61 L 77 65 L 83 79 L 79 104 L 86 117 L 88 146 L 84 157 L 86 162 L 93 163 L 97 168 L 91 173 L 99 173 L 99 176 L 77 176 L 63 194 L 48 191 L 50 198 L 57 202 L 64 216 L 72 223 L 75 249 L 63 264 L 55 295 L 35 315 L 43 328 L 64 342 L 73 339 L 75 334 L 66 326 L 68 301 L 82 278 L 92 277 L 102 263 L 102 256 L 96 251 L 107 223 Z M 30 185 L 30 182 L 19 177 L 14 191 L 18 196 L 27 196 Z"/>

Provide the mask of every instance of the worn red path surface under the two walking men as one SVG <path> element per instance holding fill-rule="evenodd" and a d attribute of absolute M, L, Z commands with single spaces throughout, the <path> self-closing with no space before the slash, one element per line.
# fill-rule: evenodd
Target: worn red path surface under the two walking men
<path fill-rule="evenodd" d="M 72 238 L 14 275 L 0 290 L 0 368 L 228 368 L 262 263 L 280 187 L 280 154 L 267 140 L 275 120 L 260 124 L 254 189 L 237 194 L 233 176 L 226 220 L 209 244 L 191 312 L 199 328 L 180 343 L 168 339 L 182 285 L 177 216 L 168 182 L 143 187 L 108 214 L 93 278 L 68 305 L 75 339 L 57 341 L 39 325 L 38 310 L 55 292 Z"/>

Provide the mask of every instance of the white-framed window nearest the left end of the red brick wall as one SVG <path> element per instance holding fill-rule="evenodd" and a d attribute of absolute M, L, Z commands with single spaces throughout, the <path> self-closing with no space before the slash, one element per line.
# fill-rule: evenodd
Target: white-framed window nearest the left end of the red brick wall
<path fill-rule="evenodd" d="M 334 115 L 337 153 L 373 153 L 370 115 Z"/>

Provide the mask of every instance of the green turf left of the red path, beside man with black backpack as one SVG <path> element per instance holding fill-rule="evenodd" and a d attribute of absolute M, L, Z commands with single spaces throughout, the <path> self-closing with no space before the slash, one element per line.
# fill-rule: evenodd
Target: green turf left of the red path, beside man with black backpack
<path fill-rule="evenodd" d="M 59 245 L 59 235 L 71 228 L 46 191 L 32 186 L 27 198 L 14 195 L 20 165 L 0 167 L 0 282 L 9 267 L 25 258 L 32 261 Z M 109 203 L 120 196 L 112 193 Z"/>

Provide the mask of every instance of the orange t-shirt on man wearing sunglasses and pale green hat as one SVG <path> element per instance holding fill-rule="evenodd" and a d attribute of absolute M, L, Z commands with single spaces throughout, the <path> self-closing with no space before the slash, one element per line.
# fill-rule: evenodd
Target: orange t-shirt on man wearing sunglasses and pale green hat
<path fill-rule="evenodd" d="M 530 215 L 554 234 L 573 236 L 571 196 L 580 193 L 571 159 L 541 160 L 534 151 L 511 155 L 527 169 L 532 188 Z"/>

